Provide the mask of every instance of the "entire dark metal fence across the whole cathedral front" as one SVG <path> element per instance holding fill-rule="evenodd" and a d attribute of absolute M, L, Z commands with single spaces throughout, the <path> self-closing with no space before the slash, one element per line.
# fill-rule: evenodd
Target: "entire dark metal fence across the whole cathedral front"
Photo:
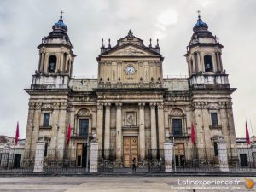
<path fill-rule="evenodd" d="M 115 151 L 98 150 L 98 172 L 114 172 Z M 37 155 L 44 157 L 37 162 Z M 256 172 L 256 148 L 172 148 L 149 149 L 145 165 L 148 172 L 165 172 L 165 155 L 172 156 L 173 172 L 220 172 L 228 168 L 230 172 Z M 90 150 L 53 149 L 0 151 L 0 172 L 33 172 L 35 164 L 43 164 L 43 172 L 89 172 Z M 138 167 L 140 168 L 140 167 Z M 147 171 L 147 170 L 146 170 Z"/>

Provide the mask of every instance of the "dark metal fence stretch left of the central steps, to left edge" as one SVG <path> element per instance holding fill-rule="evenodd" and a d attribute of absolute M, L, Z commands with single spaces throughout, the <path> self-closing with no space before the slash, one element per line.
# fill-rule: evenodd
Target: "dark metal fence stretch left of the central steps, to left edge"
<path fill-rule="evenodd" d="M 36 156 L 44 157 L 43 162 Z M 10 150 L 0 153 L 0 172 L 33 172 L 35 164 L 43 163 L 44 172 L 88 172 L 90 150 Z"/>

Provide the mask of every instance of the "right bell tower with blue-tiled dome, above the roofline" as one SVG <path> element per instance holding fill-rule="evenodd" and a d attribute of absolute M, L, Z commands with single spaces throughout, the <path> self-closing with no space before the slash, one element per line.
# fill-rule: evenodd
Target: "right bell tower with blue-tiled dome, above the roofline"
<path fill-rule="evenodd" d="M 200 11 L 198 11 L 200 13 Z M 188 63 L 189 77 L 195 75 L 221 75 L 224 74 L 221 53 L 223 45 L 218 38 L 208 31 L 207 24 L 198 20 L 193 27 L 193 35 L 185 55 Z"/>

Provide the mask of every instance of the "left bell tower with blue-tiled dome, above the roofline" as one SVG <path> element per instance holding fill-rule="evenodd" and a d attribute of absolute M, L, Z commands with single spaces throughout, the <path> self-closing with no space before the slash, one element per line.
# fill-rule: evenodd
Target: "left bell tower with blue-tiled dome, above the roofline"
<path fill-rule="evenodd" d="M 62 19 L 52 26 L 52 32 L 42 38 L 39 49 L 39 64 L 36 74 L 46 76 L 64 75 L 71 77 L 73 61 L 73 45 L 67 35 L 67 26 Z"/>

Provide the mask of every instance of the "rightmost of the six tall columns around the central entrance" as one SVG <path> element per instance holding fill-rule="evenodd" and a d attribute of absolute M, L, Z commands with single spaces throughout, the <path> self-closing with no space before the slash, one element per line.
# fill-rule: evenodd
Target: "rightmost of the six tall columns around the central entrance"
<path fill-rule="evenodd" d="M 158 114 L 158 135 L 159 135 L 159 148 L 164 148 L 165 142 L 165 125 L 164 125 L 164 103 L 160 102 L 157 104 Z"/>

